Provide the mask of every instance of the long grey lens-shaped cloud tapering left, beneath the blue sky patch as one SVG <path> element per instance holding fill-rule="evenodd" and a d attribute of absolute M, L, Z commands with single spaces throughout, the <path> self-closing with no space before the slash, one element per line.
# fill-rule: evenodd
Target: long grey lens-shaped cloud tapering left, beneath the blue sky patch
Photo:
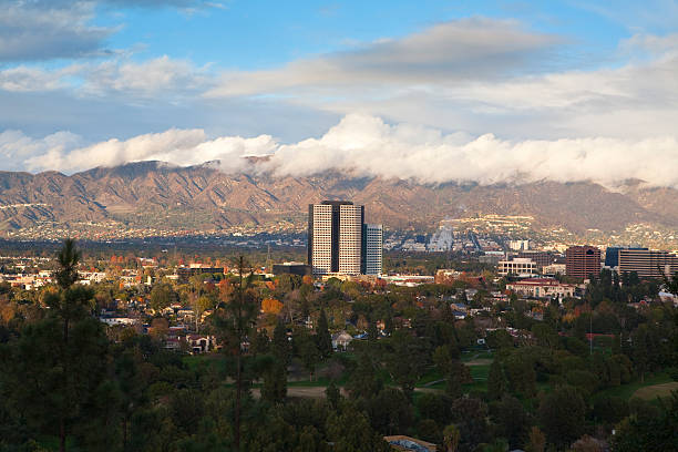
<path fill-rule="evenodd" d="M 225 73 L 222 84 L 207 95 L 295 93 L 309 88 L 341 92 L 364 85 L 495 80 L 512 71 L 534 69 L 536 59 L 559 42 L 555 35 L 525 31 L 512 20 L 460 19 L 280 69 Z"/>

